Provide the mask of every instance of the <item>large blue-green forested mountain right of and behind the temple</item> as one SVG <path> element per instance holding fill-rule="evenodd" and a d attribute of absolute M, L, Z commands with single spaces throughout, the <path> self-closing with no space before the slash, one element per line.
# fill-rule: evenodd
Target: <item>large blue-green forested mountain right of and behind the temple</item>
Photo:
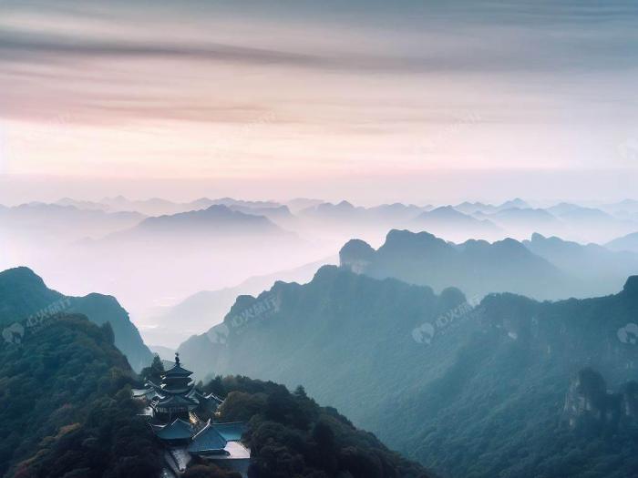
<path fill-rule="evenodd" d="M 478 245 L 493 249 L 527 251 Z M 304 383 L 442 475 L 576 478 L 595 465 L 621 478 L 638 464 L 629 451 L 638 444 L 638 384 L 627 383 L 638 379 L 636 317 L 638 277 L 600 299 L 491 294 L 476 306 L 456 289 L 436 295 L 326 266 L 306 285 L 278 282 L 238 298 L 224 323 L 184 342 L 180 356 L 200 376 Z M 602 392 L 574 385 L 584 368 L 602 373 Z M 624 405 L 608 409 L 607 388 Z M 607 421 L 607 410 L 618 419 Z"/>

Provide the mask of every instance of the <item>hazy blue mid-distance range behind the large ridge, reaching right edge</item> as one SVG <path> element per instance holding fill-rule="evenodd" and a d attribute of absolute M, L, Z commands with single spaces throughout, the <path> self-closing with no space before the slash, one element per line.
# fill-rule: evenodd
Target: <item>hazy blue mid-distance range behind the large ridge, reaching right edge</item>
<path fill-rule="evenodd" d="M 479 297 L 490 292 L 540 300 L 591 297 L 612 293 L 638 274 L 638 254 L 540 234 L 523 242 L 455 244 L 427 232 L 392 230 L 376 250 L 363 241 L 349 241 L 340 259 L 345 268 L 377 279 L 392 277 L 435 290 L 456 286 Z"/>

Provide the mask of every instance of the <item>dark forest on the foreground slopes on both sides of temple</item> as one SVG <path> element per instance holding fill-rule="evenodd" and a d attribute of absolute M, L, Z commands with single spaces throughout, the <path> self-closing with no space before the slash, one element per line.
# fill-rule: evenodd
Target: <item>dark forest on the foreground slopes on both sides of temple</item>
<path fill-rule="evenodd" d="M 0 475 L 15 478 L 144 477 L 160 473 L 160 443 L 130 389 L 142 378 L 113 344 L 108 324 L 58 315 L 21 344 L 0 345 Z M 142 375 L 157 372 L 156 368 Z M 251 477 L 427 477 L 332 408 L 298 388 L 218 377 L 221 420 L 245 421 Z M 187 478 L 232 478 L 194 462 Z"/>

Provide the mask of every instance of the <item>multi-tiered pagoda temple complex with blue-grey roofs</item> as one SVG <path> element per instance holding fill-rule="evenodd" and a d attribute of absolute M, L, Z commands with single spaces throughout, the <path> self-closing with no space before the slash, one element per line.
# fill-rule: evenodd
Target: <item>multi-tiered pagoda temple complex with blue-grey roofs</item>
<path fill-rule="evenodd" d="M 161 374 L 161 383 L 147 381 L 144 389 L 133 390 L 133 397 L 147 405 L 149 426 L 165 446 L 163 476 L 178 477 L 193 459 L 211 461 L 246 476 L 251 452 L 242 444 L 245 425 L 241 422 L 215 422 L 222 400 L 197 390 L 190 379 L 192 371 L 175 363 Z M 202 420 L 201 416 L 209 417 Z"/>

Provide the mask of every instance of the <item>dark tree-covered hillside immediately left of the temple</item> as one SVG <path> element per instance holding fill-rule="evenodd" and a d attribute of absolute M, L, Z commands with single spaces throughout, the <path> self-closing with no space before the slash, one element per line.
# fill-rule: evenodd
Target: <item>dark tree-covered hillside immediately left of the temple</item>
<path fill-rule="evenodd" d="M 135 380 L 108 324 L 83 316 L 57 316 L 22 344 L 0 345 L 0 474 L 157 474 L 159 449 L 130 398 Z"/>

